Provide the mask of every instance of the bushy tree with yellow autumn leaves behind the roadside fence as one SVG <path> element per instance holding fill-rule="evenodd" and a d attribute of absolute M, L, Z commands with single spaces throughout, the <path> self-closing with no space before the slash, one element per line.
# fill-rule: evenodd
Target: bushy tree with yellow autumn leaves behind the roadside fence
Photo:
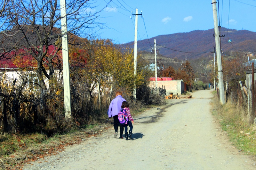
<path fill-rule="evenodd" d="M 85 57 L 86 64 L 83 66 L 88 77 L 88 92 L 96 88 L 97 81 L 100 81 L 101 88 L 110 89 L 111 85 L 116 88 L 127 89 L 132 92 L 134 85 L 140 86 L 147 79 L 149 69 L 142 55 L 137 56 L 137 75 L 133 75 L 133 55 L 129 48 L 115 46 L 111 40 L 96 40 L 84 43 L 80 46 L 86 52 L 72 53 Z M 90 87 L 90 88 L 89 88 Z M 93 88 L 92 88 L 93 87 Z"/>

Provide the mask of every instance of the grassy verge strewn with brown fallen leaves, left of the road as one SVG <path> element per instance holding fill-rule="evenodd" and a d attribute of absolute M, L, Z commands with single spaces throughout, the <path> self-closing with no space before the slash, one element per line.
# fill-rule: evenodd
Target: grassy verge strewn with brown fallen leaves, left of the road
<path fill-rule="evenodd" d="M 0 136 L 0 169 L 22 169 L 22 165 L 44 156 L 61 152 L 65 146 L 79 144 L 83 139 L 97 136 L 111 125 L 89 125 L 67 134 L 47 137 L 44 134 L 3 134 Z"/>

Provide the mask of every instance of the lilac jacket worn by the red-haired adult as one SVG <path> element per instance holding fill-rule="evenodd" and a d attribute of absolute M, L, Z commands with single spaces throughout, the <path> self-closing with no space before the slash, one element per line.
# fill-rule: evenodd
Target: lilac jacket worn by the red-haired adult
<path fill-rule="evenodd" d="M 116 96 L 116 98 L 111 101 L 108 107 L 108 117 L 118 115 L 118 112 L 121 109 L 123 101 L 126 100 L 121 95 Z"/>

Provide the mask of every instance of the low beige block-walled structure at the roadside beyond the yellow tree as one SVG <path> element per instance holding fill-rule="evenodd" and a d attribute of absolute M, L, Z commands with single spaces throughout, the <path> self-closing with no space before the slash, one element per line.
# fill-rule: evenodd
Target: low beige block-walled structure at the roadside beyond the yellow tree
<path fill-rule="evenodd" d="M 150 81 L 149 87 L 155 88 L 156 81 Z M 157 87 L 166 90 L 166 95 L 170 92 L 173 94 L 178 93 L 179 95 L 184 92 L 184 82 L 181 80 L 171 80 L 171 81 L 157 81 Z"/>

